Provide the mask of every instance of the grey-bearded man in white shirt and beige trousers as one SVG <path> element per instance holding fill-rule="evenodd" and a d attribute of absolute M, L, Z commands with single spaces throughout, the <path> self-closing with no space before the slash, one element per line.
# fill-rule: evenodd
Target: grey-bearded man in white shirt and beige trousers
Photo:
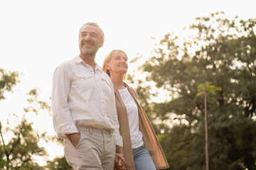
<path fill-rule="evenodd" d="M 73 169 L 111 170 L 116 149 L 123 155 L 113 84 L 95 62 L 103 42 L 97 23 L 85 23 L 79 31 L 80 55 L 53 74 L 53 125 Z"/>

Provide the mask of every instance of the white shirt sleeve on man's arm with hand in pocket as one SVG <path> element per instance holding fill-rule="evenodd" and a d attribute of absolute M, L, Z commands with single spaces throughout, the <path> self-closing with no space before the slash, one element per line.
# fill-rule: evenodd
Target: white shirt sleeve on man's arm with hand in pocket
<path fill-rule="evenodd" d="M 70 68 L 63 65 L 58 66 L 53 74 L 52 86 L 52 113 L 53 113 L 53 127 L 62 139 L 68 139 L 65 134 L 78 132 L 78 129 L 73 122 L 70 115 L 70 108 L 68 106 L 68 95 L 70 93 L 70 84 L 72 73 Z"/>

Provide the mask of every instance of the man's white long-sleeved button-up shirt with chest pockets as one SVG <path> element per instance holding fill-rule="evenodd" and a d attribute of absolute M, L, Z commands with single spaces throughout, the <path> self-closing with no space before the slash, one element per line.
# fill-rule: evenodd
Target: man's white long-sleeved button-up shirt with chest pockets
<path fill-rule="evenodd" d="M 79 57 L 60 64 L 53 74 L 53 126 L 58 137 L 78 132 L 76 125 L 111 130 L 122 147 L 110 77 L 98 64 L 95 72 Z"/>

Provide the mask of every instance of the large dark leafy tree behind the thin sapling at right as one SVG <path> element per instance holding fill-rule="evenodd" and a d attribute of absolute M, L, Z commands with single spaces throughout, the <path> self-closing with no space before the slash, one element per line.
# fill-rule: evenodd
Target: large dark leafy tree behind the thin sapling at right
<path fill-rule="evenodd" d="M 161 145 L 170 169 L 205 169 L 204 102 L 198 85 L 205 81 L 221 88 L 208 94 L 210 169 L 256 169 L 256 20 L 225 18 L 224 13 L 196 18 L 183 34 L 168 33 L 155 56 L 142 65 L 156 91 L 165 90 L 169 101 L 154 102 L 150 86 L 138 94 L 159 125 Z M 185 31 L 193 34 L 184 37 Z M 159 89 L 159 90 L 157 90 Z"/>

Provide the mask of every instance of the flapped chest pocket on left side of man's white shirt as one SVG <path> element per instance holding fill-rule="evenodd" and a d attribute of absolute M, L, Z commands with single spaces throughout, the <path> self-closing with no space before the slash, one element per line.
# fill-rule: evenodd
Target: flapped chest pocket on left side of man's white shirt
<path fill-rule="evenodd" d="M 75 74 L 73 85 L 78 87 L 81 91 L 92 89 L 92 87 L 95 86 L 91 75 L 82 74 Z"/>

